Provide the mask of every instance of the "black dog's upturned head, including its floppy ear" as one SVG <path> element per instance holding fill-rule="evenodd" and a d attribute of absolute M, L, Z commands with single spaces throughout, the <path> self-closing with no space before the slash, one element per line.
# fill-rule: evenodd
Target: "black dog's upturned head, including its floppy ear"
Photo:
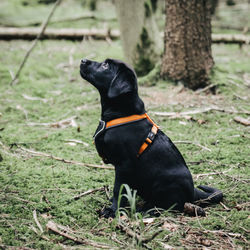
<path fill-rule="evenodd" d="M 83 59 L 80 74 L 83 79 L 94 85 L 102 95 L 108 98 L 137 92 L 134 70 L 119 60 L 106 59 L 99 63 Z"/>

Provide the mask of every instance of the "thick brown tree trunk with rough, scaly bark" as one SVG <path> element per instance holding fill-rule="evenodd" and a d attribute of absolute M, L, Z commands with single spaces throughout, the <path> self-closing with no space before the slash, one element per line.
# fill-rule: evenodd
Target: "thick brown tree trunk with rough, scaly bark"
<path fill-rule="evenodd" d="M 204 87 L 213 67 L 210 0 L 166 0 L 161 74 L 191 88 Z"/>

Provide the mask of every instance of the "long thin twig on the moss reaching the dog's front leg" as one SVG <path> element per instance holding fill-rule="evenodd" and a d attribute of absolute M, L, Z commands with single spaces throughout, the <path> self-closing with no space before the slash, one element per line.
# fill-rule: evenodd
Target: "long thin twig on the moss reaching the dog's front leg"
<path fill-rule="evenodd" d="M 103 168 L 103 169 L 112 169 L 112 170 L 114 169 L 113 167 L 108 167 L 108 166 L 102 166 L 102 165 L 96 165 L 96 164 L 66 160 L 66 159 L 63 159 L 63 158 L 60 158 L 60 157 L 57 157 L 57 156 L 53 156 L 53 155 L 50 155 L 50 154 L 30 150 L 30 149 L 23 148 L 23 147 L 20 147 L 20 146 L 17 146 L 17 147 L 19 149 L 25 151 L 25 152 L 30 153 L 33 156 L 48 157 L 48 158 L 51 158 L 53 160 L 61 161 L 61 162 L 68 163 L 68 164 L 74 164 L 74 165 L 79 165 L 79 166 L 84 166 L 84 167 L 92 167 L 92 168 Z"/>

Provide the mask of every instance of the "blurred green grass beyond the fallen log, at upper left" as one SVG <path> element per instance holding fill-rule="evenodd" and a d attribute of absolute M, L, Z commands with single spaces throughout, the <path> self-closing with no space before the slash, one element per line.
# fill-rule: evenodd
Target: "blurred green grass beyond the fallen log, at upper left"
<path fill-rule="evenodd" d="M 85 1 L 85 0 L 84 0 Z M 49 27 L 64 28 L 118 28 L 115 8 L 110 1 L 99 1 L 97 10 L 91 11 L 83 5 L 82 0 L 64 0 L 54 13 Z M 28 5 L 23 4 L 24 2 Z M 2 0 L 0 3 L 0 25 L 3 26 L 33 26 L 44 21 L 52 8 L 52 4 L 38 4 L 37 0 Z M 17 15 L 18 13 L 18 15 Z M 83 18 L 74 21 L 64 21 L 78 17 L 95 15 L 96 19 Z M 100 20 L 98 20 L 100 19 Z M 60 22 L 55 22 L 60 21 Z"/>

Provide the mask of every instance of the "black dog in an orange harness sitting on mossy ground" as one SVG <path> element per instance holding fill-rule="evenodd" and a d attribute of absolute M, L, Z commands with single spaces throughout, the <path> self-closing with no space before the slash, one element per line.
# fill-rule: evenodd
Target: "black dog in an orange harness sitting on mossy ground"
<path fill-rule="evenodd" d="M 102 120 L 94 136 L 95 145 L 104 162 L 115 166 L 113 202 L 103 211 L 105 217 L 115 215 L 122 184 L 137 190 L 148 208 L 183 211 L 185 202 L 222 200 L 222 192 L 215 188 L 194 188 L 179 150 L 145 114 L 133 69 L 118 60 L 98 63 L 83 59 L 80 73 L 100 93 Z"/>

